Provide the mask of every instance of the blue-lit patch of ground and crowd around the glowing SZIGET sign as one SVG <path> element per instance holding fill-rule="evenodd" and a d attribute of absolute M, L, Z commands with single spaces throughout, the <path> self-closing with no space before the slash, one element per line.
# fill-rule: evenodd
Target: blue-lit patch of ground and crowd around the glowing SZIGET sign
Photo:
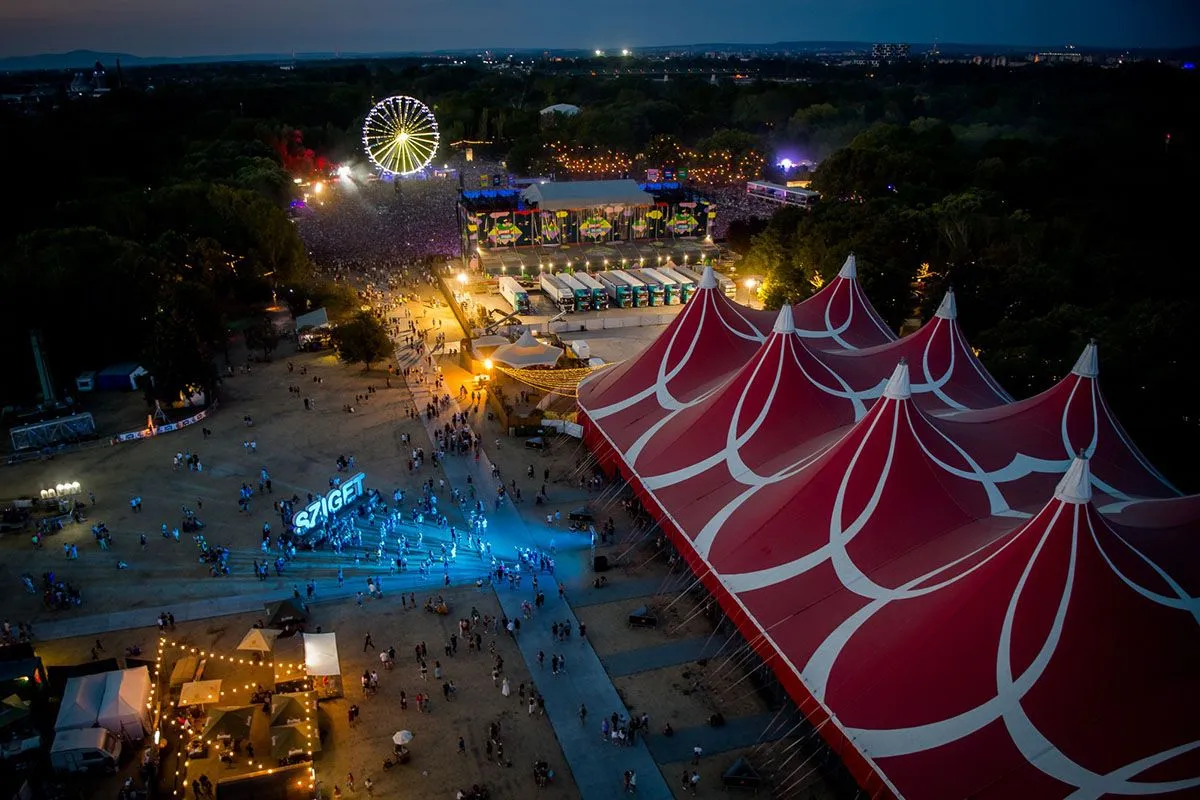
<path fill-rule="evenodd" d="M 487 588 L 493 582 L 497 588 L 521 588 L 535 575 L 540 582 L 551 576 L 552 588 L 558 579 L 577 577 L 589 564 L 583 557 L 593 551 L 588 521 L 572 519 L 581 515 L 571 513 L 527 524 L 514 507 L 509 486 L 492 475 L 468 475 L 468 463 L 478 462 L 446 456 L 444 471 L 404 492 L 371 488 L 362 473 L 340 473 L 324 497 L 278 501 L 287 533 L 274 536 L 264 528 L 260 576 L 272 571 L 286 576 L 295 558 L 306 569 L 328 559 L 347 581 L 366 576 L 360 589 L 376 595 L 430 594 L 450 585 Z M 420 474 L 414 465 L 414 476 Z M 536 499 L 526 498 L 524 504 L 536 505 Z"/>

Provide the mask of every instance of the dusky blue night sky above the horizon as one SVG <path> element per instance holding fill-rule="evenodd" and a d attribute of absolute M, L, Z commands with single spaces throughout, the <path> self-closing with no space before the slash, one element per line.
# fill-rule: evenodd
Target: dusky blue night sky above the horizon
<path fill-rule="evenodd" d="M 0 55 L 862 41 L 1180 47 L 1200 0 L 0 0 Z"/>

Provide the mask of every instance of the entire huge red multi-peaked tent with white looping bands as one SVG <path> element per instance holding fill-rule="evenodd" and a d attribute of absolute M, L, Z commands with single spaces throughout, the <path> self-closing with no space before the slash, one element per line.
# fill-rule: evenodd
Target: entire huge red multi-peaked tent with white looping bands
<path fill-rule="evenodd" d="M 720 313 L 664 337 L 686 331 L 737 353 L 692 349 L 718 367 L 666 403 L 637 383 L 586 381 L 586 441 L 630 480 L 871 796 L 1200 790 L 1195 709 L 1139 678 L 1200 697 L 1189 594 L 1200 576 L 1170 577 L 1184 569 L 1172 560 L 1198 563 L 1200 504 L 1144 500 L 1177 492 L 1104 404 L 1094 347 L 1020 403 L 974 371 L 972 354 L 940 389 L 955 392 L 967 375 L 961 385 L 994 387 L 997 403 L 948 413 L 923 401 L 946 361 L 911 375 L 914 354 L 938 338 L 970 353 L 950 299 L 924 338 L 890 351 L 902 360 L 871 404 L 839 371 L 842 354 L 808 347 L 791 312 L 746 355 L 749 337 L 721 333 L 727 301 L 697 300 Z M 948 396 L 965 405 L 968 395 Z M 1121 522 L 1091 505 L 1093 486 Z M 1110 627 L 1139 646 L 1105 638 Z M 1172 658 L 1186 669 L 1164 666 Z M 1120 730 L 1106 729 L 1106 706 Z M 1136 709 L 1154 735 L 1138 734 Z"/>

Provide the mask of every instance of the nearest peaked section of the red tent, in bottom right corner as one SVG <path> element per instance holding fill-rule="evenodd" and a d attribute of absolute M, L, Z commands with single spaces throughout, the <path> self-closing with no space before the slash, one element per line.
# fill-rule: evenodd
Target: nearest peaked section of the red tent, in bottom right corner
<path fill-rule="evenodd" d="M 1200 792 L 1196 601 L 1090 499 L 1080 458 L 970 570 L 860 614 L 805 668 L 898 794 Z"/>

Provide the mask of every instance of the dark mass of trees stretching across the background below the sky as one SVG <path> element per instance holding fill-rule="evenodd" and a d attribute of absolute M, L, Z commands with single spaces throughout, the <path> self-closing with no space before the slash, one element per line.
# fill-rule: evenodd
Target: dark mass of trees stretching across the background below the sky
<path fill-rule="evenodd" d="M 732 182 L 761 175 L 714 164 L 821 161 L 815 211 L 730 231 L 745 254 L 739 270 L 766 278 L 768 305 L 810 294 L 848 251 L 896 326 L 928 318 L 953 284 L 972 344 L 1019 397 L 1051 385 L 1094 337 L 1116 413 L 1152 461 L 1196 488 L 1187 336 L 1198 278 L 1186 247 L 1194 74 L 1152 64 L 761 61 L 739 70 L 786 82 L 734 83 L 713 79 L 703 60 L 673 60 L 666 82 L 658 70 L 152 67 L 126 70 L 103 98 L 5 108 L 5 349 L 20 351 L 40 327 L 60 383 L 132 357 L 168 396 L 210 380 L 228 324 L 258 313 L 272 288 L 301 306 L 328 291 L 287 219 L 292 179 L 361 161 L 371 104 L 410 94 L 434 109 L 443 143 L 491 142 L 515 173 L 612 178 L 674 166 Z M 581 112 L 547 125 L 539 112 L 553 103 Z M 594 173 L 589 157 L 618 172 Z M 769 166 L 766 176 L 779 178 Z M 12 375 L 6 402 L 32 399 L 31 359 L 17 357 Z"/>

